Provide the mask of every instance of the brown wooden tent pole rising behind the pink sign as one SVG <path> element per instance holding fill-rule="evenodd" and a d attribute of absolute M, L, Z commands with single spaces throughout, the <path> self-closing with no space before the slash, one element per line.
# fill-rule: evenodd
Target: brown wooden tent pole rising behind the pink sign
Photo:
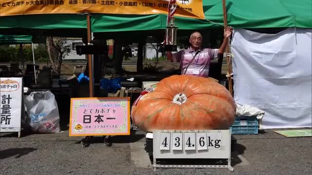
<path fill-rule="evenodd" d="M 87 39 L 88 43 L 90 43 L 91 40 L 91 22 L 90 22 L 90 15 L 87 15 Z M 89 65 L 89 94 L 90 97 L 93 97 L 93 67 L 92 67 L 92 55 L 88 54 L 88 65 Z"/>

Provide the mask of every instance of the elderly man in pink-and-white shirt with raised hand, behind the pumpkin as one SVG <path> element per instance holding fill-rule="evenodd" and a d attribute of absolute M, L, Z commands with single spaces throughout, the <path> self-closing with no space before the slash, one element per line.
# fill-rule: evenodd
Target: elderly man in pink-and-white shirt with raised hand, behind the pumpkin
<path fill-rule="evenodd" d="M 210 61 L 217 58 L 219 54 L 223 55 L 231 34 L 232 28 L 227 27 L 224 29 L 224 39 L 219 49 L 202 49 L 202 35 L 199 32 L 193 32 L 189 39 L 191 47 L 174 54 L 168 52 L 168 59 L 171 62 L 180 63 L 181 74 L 208 77 Z"/>

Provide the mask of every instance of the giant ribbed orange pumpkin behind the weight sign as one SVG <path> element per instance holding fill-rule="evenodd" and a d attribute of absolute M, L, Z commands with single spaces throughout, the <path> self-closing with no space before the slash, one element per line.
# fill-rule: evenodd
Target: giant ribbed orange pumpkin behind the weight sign
<path fill-rule="evenodd" d="M 233 97 L 208 78 L 173 75 L 153 87 L 138 97 L 131 110 L 133 122 L 143 131 L 229 129 L 234 123 Z"/>

